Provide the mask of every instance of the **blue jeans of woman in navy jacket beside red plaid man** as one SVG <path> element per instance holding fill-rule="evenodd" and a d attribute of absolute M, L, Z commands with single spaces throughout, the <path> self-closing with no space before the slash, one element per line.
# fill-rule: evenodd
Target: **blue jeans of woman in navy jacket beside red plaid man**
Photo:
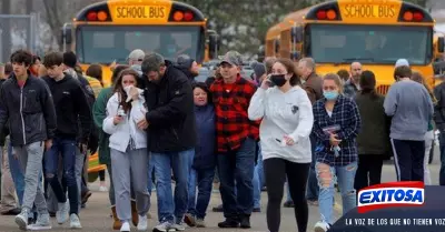
<path fill-rule="evenodd" d="M 188 182 L 188 213 L 198 219 L 206 216 L 210 202 L 215 169 L 191 169 Z M 198 184 L 198 195 L 196 185 Z"/>

